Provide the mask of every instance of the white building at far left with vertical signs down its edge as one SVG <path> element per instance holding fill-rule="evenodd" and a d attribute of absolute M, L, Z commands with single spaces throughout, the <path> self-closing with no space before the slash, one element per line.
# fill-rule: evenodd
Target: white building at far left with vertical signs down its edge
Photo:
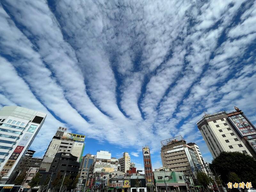
<path fill-rule="evenodd" d="M 0 172 L 6 183 L 41 129 L 45 113 L 18 106 L 0 110 Z"/>

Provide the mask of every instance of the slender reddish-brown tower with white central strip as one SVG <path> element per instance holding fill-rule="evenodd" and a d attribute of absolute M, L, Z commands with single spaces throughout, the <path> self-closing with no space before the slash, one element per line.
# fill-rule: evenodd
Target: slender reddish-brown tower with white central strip
<path fill-rule="evenodd" d="M 143 152 L 143 162 L 144 162 L 146 183 L 154 184 L 152 162 L 151 162 L 150 150 L 148 146 L 143 147 L 142 152 Z"/>

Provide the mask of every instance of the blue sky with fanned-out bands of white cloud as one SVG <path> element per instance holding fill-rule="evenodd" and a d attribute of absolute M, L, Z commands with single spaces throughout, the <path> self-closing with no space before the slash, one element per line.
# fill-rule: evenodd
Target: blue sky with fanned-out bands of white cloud
<path fill-rule="evenodd" d="M 59 126 L 84 154 L 127 151 L 153 169 L 178 135 L 212 156 L 196 122 L 239 107 L 256 124 L 256 1 L 0 0 L 0 107 L 47 113 L 31 149 Z"/>

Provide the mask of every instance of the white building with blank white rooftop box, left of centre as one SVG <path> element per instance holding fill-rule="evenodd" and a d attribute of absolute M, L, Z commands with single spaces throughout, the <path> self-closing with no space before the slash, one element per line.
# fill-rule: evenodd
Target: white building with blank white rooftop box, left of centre
<path fill-rule="evenodd" d="M 108 151 L 97 151 L 96 158 L 93 162 L 93 173 L 95 172 L 114 172 L 118 169 L 118 159 L 111 158 Z"/>

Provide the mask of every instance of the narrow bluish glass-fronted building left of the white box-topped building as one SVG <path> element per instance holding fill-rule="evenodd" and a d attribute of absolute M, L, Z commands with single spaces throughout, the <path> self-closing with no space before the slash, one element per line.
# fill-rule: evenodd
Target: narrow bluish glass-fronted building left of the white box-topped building
<path fill-rule="evenodd" d="M 86 178 L 89 175 L 90 166 L 93 164 L 94 158 L 96 158 L 96 156 L 92 154 L 86 154 L 82 158 L 82 162 L 80 165 L 80 175 L 83 178 L 83 184 L 85 183 Z"/>

